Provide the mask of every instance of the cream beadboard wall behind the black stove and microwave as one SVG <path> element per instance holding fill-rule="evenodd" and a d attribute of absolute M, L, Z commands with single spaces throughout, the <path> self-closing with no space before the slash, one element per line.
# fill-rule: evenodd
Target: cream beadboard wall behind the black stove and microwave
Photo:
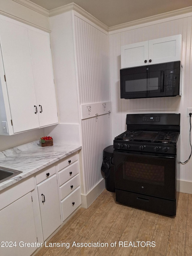
<path fill-rule="evenodd" d="M 120 73 L 122 45 L 148 41 L 151 39 L 182 35 L 182 96 L 148 99 L 120 99 Z M 140 28 L 128 28 L 109 35 L 110 45 L 110 88 L 112 106 L 112 138 L 126 130 L 126 114 L 128 113 L 181 113 L 181 161 L 190 155 L 189 129 L 190 119 L 187 107 L 192 107 L 192 14 L 152 25 L 146 23 Z M 192 182 L 192 159 L 180 165 L 180 179 Z"/>

